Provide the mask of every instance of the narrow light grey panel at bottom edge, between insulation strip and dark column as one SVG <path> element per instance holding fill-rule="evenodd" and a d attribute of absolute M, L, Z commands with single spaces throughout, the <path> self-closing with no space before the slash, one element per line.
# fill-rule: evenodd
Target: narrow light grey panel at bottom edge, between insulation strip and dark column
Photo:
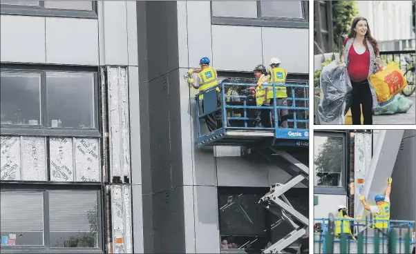
<path fill-rule="evenodd" d="M 133 253 L 144 253 L 142 185 L 131 185 L 131 215 L 133 218 Z"/>

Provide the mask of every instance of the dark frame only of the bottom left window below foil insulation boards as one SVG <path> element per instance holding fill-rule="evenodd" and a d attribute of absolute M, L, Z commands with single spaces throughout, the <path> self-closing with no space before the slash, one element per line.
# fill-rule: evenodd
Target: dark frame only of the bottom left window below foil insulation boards
<path fill-rule="evenodd" d="M 51 247 L 49 192 L 60 191 L 95 191 L 97 193 L 97 247 Z M 104 254 L 105 222 L 103 220 L 103 195 L 100 184 L 59 185 L 59 184 L 1 184 L 1 192 L 36 192 L 44 193 L 44 246 L 0 246 L 1 253 L 102 253 Z"/>

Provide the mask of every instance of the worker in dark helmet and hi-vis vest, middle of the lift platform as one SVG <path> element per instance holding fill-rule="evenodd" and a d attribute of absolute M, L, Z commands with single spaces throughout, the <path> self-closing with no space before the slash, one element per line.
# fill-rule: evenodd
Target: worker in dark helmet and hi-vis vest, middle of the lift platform
<path fill-rule="evenodd" d="M 261 81 L 261 79 L 263 79 L 265 77 L 265 75 L 267 74 L 267 70 L 265 68 L 265 66 L 263 66 L 263 64 L 258 64 L 255 68 L 254 68 L 254 77 L 256 77 L 256 79 L 258 81 Z M 262 82 L 262 84 L 267 84 L 267 82 Z M 252 90 L 256 91 L 256 105 L 257 106 L 266 106 L 267 105 L 267 88 L 265 86 L 261 86 L 261 84 L 259 85 L 257 83 L 256 88 L 252 87 Z M 256 127 L 271 127 L 271 123 L 270 123 L 270 110 L 267 109 L 257 109 L 256 110 L 256 118 L 255 118 L 255 124 Z M 268 121 L 267 121 L 268 120 Z"/>

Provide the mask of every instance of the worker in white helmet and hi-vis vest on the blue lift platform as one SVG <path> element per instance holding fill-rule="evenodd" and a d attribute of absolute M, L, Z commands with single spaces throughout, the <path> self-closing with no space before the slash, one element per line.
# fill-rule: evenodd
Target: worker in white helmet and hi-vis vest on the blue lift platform
<path fill-rule="evenodd" d="M 270 59 L 269 62 L 270 69 L 267 72 L 267 75 L 258 81 L 257 85 L 261 86 L 265 81 L 269 81 L 269 84 L 285 84 L 287 71 L 280 68 L 281 61 L 277 58 Z M 273 105 L 274 99 L 276 99 L 276 106 L 285 106 L 287 107 L 287 92 L 285 86 L 276 86 L 274 88 L 275 95 L 273 96 L 273 89 L 269 89 L 267 92 L 267 98 L 270 98 L 270 105 Z M 278 126 L 280 128 L 288 128 L 287 118 L 289 117 L 289 111 L 287 109 L 278 109 Z M 272 112 L 272 124 L 274 125 L 274 113 Z"/>

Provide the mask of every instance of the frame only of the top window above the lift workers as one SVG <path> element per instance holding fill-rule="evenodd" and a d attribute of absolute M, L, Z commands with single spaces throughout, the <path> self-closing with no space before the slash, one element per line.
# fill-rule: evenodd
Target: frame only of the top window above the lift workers
<path fill-rule="evenodd" d="M 261 26 L 275 28 L 305 28 L 309 29 L 309 1 L 301 1 L 303 19 L 283 18 L 283 17 L 262 17 L 261 1 L 256 1 L 257 18 L 248 17 L 216 17 L 212 11 L 211 4 L 211 24 L 212 25 L 231 25 L 231 26 Z"/>

